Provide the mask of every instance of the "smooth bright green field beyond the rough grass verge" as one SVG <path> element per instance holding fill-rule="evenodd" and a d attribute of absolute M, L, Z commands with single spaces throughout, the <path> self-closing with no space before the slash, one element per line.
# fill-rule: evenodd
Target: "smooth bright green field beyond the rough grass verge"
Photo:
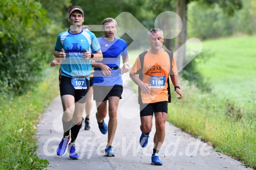
<path fill-rule="evenodd" d="M 213 92 L 222 99 L 246 103 L 256 90 L 256 36 L 203 42 L 214 56 L 198 67 L 210 78 Z"/>

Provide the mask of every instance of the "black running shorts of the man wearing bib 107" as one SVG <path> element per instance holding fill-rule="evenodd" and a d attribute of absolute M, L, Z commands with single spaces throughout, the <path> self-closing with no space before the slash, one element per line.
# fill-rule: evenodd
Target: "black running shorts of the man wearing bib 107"
<path fill-rule="evenodd" d="M 86 103 L 87 92 L 89 91 L 89 80 L 86 79 L 87 89 L 75 89 L 71 83 L 72 78 L 60 76 L 60 92 L 61 96 L 72 95 L 75 97 L 75 102 Z"/>

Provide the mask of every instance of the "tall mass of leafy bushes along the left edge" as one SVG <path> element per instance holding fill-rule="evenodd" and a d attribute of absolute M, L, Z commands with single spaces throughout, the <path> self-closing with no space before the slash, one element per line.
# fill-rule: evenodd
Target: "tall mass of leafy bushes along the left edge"
<path fill-rule="evenodd" d="M 39 81 L 46 56 L 38 48 L 46 10 L 34 0 L 7 0 L 0 4 L 0 94 L 21 94 Z"/>

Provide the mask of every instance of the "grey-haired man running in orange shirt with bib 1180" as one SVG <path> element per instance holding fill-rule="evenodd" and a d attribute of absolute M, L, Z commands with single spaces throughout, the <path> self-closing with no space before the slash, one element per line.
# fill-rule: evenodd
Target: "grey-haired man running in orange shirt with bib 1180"
<path fill-rule="evenodd" d="M 153 165 L 162 165 L 158 153 L 165 138 L 165 122 L 168 113 L 168 102 L 170 102 L 167 89 L 169 75 L 174 85 L 174 90 L 180 95 L 178 99 L 183 98 L 183 92 L 178 86 L 175 57 L 173 53 L 162 49 L 163 41 L 162 30 L 151 28 L 148 32 L 148 42 L 151 45 L 151 49 L 141 53 L 140 56 L 143 57 L 137 57 L 130 71 L 130 78 L 139 86 L 142 131 L 140 145 L 143 148 L 148 145 L 152 117 L 155 113 L 155 147 L 151 157 L 151 164 Z M 137 74 L 140 75 L 138 76 Z"/>

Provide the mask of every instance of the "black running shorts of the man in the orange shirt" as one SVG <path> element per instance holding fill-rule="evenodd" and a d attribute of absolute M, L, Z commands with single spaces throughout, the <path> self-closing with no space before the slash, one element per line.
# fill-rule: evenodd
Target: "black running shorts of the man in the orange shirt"
<path fill-rule="evenodd" d="M 156 102 L 156 103 L 142 103 L 140 104 L 141 117 L 153 116 L 157 112 L 168 113 L 168 102 Z"/>

